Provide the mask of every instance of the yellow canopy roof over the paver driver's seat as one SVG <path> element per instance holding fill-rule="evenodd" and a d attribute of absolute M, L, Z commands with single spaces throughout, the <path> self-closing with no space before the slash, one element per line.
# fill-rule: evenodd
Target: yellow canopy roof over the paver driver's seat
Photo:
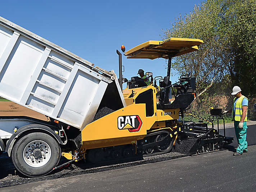
<path fill-rule="evenodd" d="M 169 38 L 164 41 L 147 41 L 125 52 L 127 58 L 168 59 L 198 50 L 197 45 L 204 43 L 200 39 Z"/>

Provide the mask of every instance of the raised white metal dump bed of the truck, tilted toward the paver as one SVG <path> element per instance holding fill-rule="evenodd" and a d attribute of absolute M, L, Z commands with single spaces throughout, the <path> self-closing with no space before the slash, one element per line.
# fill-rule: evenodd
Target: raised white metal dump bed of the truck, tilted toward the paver
<path fill-rule="evenodd" d="M 82 130 L 102 98 L 126 106 L 115 73 L 93 65 L 0 17 L 1 97 Z"/>

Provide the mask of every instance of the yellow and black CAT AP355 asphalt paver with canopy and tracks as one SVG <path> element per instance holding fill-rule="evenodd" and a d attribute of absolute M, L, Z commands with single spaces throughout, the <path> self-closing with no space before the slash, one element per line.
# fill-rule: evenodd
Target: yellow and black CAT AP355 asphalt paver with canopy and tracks
<path fill-rule="evenodd" d="M 88 124 L 82 130 L 79 153 L 95 163 L 135 154 L 164 154 L 171 151 L 180 138 L 197 139 L 189 151 L 191 155 L 219 150 L 223 142 L 230 143 L 231 138 L 221 136 L 218 130 L 208 128 L 206 123 L 178 121 L 179 116 L 183 119 L 184 111 L 195 98 L 196 84 L 191 73 L 180 76 L 179 81 L 172 84 L 171 60 L 175 56 L 198 50 L 198 45 L 202 43 L 199 39 L 169 38 L 165 41 L 147 41 L 125 52 L 128 59 L 168 59 L 167 76 L 155 77 L 153 82 L 152 73 L 146 73 L 151 78 L 149 86 L 143 79 L 132 77 L 123 90 L 127 106 L 110 110 L 109 114 Z M 122 55 L 118 50 L 117 53 L 119 83 L 122 87 Z M 174 89 L 176 94 L 170 100 Z"/>

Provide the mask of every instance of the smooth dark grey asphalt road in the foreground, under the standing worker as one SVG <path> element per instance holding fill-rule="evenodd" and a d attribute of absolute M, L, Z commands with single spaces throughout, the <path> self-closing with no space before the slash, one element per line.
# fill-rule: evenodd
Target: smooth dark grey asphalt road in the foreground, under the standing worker
<path fill-rule="evenodd" d="M 226 136 L 235 137 L 234 128 L 226 128 Z M 237 157 L 232 156 L 235 140 L 223 151 L 55 177 L 3 187 L 0 191 L 255 191 L 256 125 L 248 126 L 247 141 L 248 153 Z"/>

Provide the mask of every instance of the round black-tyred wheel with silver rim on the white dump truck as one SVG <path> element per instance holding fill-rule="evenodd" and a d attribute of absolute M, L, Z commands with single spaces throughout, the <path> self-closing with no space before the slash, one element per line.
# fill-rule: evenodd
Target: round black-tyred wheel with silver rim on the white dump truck
<path fill-rule="evenodd" d="M 60 160 L 59 143 L 46 133 L 29 133 L 21 137 L 12 150 L 18 171 L 29 177 L 50 173 Z"/>

